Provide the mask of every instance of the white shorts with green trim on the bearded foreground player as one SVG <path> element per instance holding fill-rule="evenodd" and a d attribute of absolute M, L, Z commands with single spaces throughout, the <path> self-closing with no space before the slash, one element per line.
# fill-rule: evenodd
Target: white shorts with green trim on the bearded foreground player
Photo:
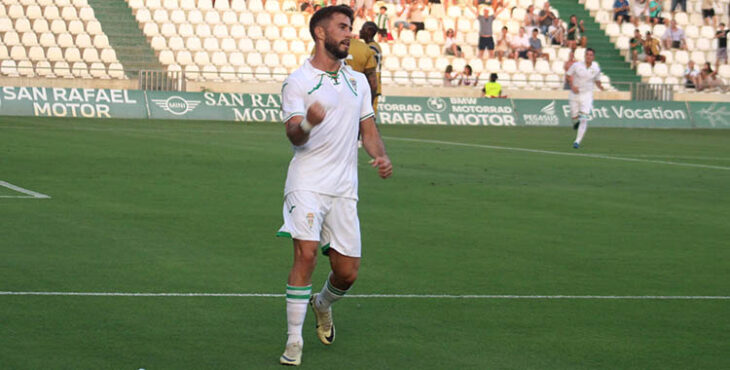
<path fill-rule="evenodd" d="M 284 225 L 277 236 L 318 241 L 322 252 L 333 248 L 348 257 L 360 257 L 360 220 L 357 200 L 311 191 L 293 191 L 284 197 Z"/>

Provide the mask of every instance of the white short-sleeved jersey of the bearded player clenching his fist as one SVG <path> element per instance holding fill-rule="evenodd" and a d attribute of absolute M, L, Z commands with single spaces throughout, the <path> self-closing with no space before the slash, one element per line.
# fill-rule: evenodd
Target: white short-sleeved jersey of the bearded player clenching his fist
<path fill-rule="evenodd" d="M 325 118 L 314 126 L 306 143 L 293 146 L 284 195 L 305 190 L 357 199 L 360 121 L 374 115 L 370 85 L 364 74 L 344 63 L 333 78 L 307 60 L 282 85 L 284 122 L 305 116 L 314 102 L 322 104 Z"/>

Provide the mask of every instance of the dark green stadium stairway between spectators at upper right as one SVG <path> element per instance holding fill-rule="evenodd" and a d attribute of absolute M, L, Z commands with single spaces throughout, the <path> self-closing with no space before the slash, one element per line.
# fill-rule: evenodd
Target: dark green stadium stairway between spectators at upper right
<path fill-rule="evenodd" d="M 570 21 L 571 14 L 575 14 L 579 20 L 583 20 L 585 26 L 583 34 L 588 37 L 588 47 L 596 50 L 596 61 L 617 89 L 629 90 L 628 85 L 617 84 L 617 82 L 641 82 L 641 78 L 631 69 L 631 64 L 624 60 L 620 51 L 601 30 L 583 4 L 578 3 L 577 0 L 551 0 L 550 5 L 560 12 L 560 18 L 566 23 Z"/>

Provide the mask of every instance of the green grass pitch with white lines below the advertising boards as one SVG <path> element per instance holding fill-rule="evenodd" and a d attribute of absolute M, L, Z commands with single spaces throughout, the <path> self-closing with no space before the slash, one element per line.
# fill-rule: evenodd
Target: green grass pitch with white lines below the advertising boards
<path fill-rule="evenodd" d="M 383 126 L 352 294 L 730 296 L 730 131 Z M 529 149 L 529 151 L 523 150 Z M 279 124 L 0 120 L 0 291 L 283 294 Z M 5 196 L 5 197 L 3 197 Z M 318 290 L 328 272 L 321 258 Z M 275 369 L 283 297 L 0 295 L 3 369 Z M 350 297 L 308 369 L 730 368 L 727 299 Z"/>

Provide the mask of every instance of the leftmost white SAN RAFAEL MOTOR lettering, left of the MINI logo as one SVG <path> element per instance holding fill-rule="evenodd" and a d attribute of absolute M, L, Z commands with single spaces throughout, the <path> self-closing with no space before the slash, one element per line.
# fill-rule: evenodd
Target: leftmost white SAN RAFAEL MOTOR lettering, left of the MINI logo
<path fill-rule="evenodd" d="M 31 102 L 35 116 L 111 118 L 112 104 L 137 104 L 128 90 L 3 87 L 2 101 Z"/>

